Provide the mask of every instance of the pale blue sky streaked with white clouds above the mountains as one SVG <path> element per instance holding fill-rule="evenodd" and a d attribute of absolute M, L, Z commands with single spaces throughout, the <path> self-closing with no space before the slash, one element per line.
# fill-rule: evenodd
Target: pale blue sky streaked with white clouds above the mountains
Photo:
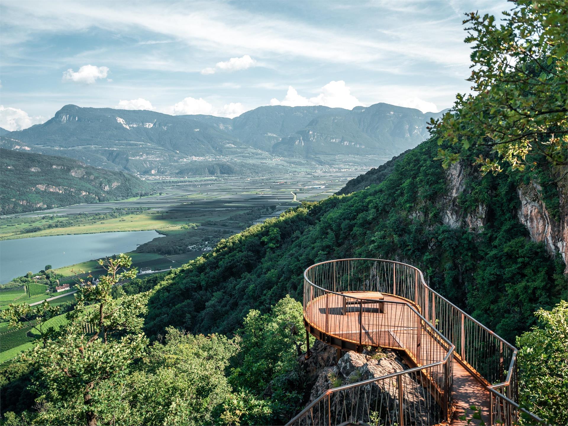
<path fill-rule="evenodd" d="M 235 117 L 263 105 L 437 112 L 469 92 L 463 14 L 504 0 L 0 1 L 0 127 L 66 104 Z"/>

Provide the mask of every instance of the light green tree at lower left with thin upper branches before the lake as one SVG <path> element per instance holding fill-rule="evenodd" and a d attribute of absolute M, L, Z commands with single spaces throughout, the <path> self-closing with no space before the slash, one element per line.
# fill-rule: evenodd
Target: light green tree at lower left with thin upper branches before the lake
<path fill-rule="evenodd" d="M 121 254 L 99 264 L 107 274 L 97 286 L 80 280 L 77 304 L 59 336 L 23 355 L 36 371 L 34 387 L 40 395 L 36 423 L 94 426 L 101 418 L 111 423 L 114 407 L 108 398 L 126 379 L 132 361 L 144 353 L 147 338 L 141 332 L 141 315 L 147 310 L 147 299 L 111 296 L 114 284 L 136 276 L 136 269 L 130 269 L 132 259 Z M 47 302 L 42 307 L 51 315 Z M 22 316 L 18 306 L 11 305 L 7 311 L 12 322 Z M 48 313 L 37 315 L 47 317 Z"/>

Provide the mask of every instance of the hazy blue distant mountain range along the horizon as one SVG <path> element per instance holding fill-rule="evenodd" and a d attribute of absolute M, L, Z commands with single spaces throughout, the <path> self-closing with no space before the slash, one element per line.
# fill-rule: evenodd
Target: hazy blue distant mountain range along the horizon
<path fill-rule="evenodd" d="M 427 139 L 426 122 L 444 112 L 389 104 L 261 106 L 231 119 L 65 105 L 43 124 L 0 129 L 0 146 L 141 175 L 254 174 L 278 158 L 384 161 Z"/>

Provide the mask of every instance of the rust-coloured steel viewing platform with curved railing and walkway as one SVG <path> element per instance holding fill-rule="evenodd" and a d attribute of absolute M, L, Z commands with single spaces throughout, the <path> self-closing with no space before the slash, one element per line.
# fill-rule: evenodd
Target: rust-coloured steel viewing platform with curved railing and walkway
<path fill-rule="evenodd" d="M 456 408 L 471 404 L 467 392 L 486 423 L 517 424 L 521 415 L 543 423 L 519 407 L 517 349 L 428 287 L 414 266 L 382 259 L 314 264 L 304 271 L 303 311 L 307 338 L 338 350 L 398 350 L 411 368 L 331 388 L 288 424 L 457 424 Z"/>

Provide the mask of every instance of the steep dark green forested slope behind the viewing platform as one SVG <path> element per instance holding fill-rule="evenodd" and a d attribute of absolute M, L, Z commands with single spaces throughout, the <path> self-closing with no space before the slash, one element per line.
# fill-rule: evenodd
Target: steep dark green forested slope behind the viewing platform
<path fill-rule="evenodd" d="M 268 311 L 287 293 L 302 299 L 302 272 L 322 260 L 396 259 L 421 268 L 429 286 L 507 340 L 528 330 L 532 313 L 566 297 L 561 255 L 531 241 L 519 219 L 519 188 L 536 180 L 552 220 L 558 192 L 548 166 L 481 176 L 473 151 L 447 171 L 435 138 L 374 174 L 369 188 L 303 204 L 223 240 L 166 279 L 149 301 L 146 328 L 230 333 L 249 309 Z M 368 179 L 368 184 L 364 180 Z"/>

